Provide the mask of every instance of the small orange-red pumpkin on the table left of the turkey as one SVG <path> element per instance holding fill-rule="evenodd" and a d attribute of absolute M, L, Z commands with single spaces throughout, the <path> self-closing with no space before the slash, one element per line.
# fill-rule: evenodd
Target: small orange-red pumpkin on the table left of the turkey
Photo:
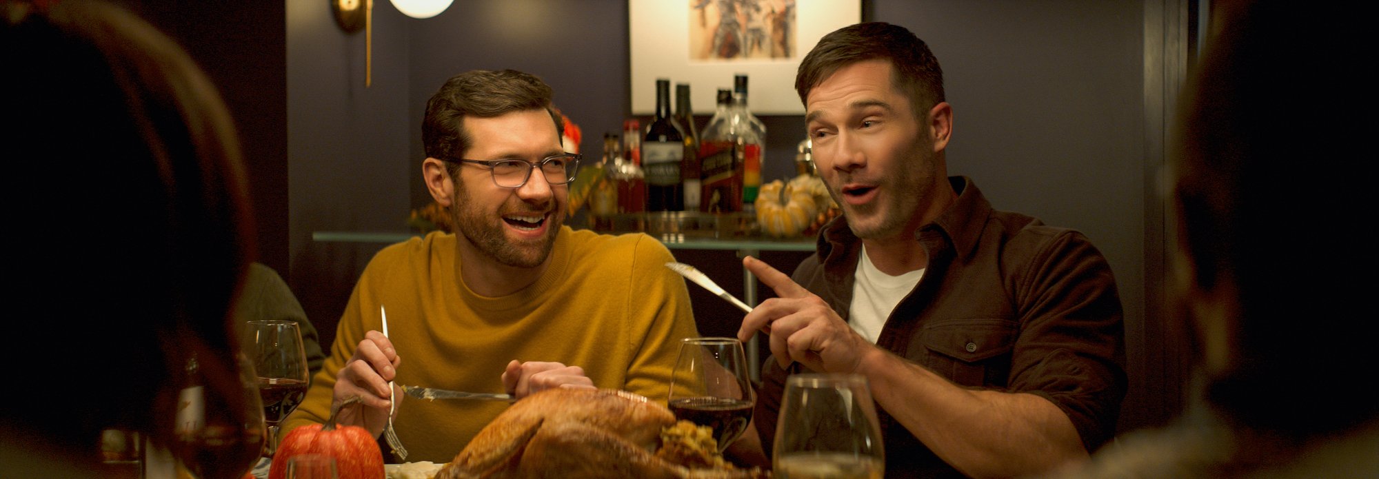
<path fill-rule="evenodd" d="M 288 432 L 277 446 L 268 478 L 285 479 L 287 460 L 292 456 L 321 454 L 335 458 L 339 479 L 383 479 L 383 451 L 378 449 L 374 435 L 357 425 L 335 424 L 341 407 L 357 402 L 359 396 L 352 396 L 331 407 L 325 424 L 302 425 Z"/>

